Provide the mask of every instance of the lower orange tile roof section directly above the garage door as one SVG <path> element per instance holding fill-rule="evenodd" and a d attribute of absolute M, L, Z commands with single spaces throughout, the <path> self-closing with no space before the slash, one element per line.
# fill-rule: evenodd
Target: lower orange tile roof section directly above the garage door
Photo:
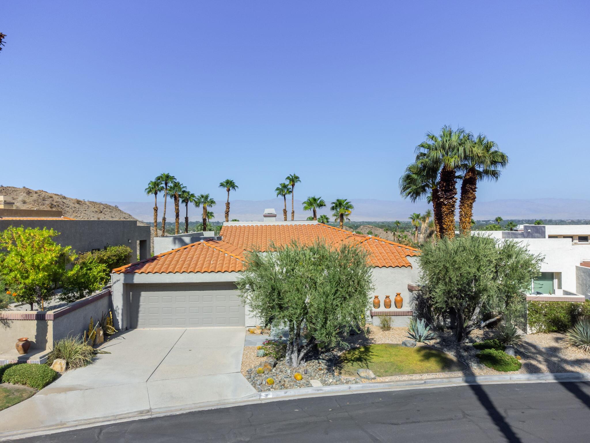
<path fill-rule="evenodd" d="M 225 249 L 227 247 L 227 249 Z M 113 269 L 113 273 L 235 272 L 244 265 L 240 247 L 209 240 L 196 242 Z"/>

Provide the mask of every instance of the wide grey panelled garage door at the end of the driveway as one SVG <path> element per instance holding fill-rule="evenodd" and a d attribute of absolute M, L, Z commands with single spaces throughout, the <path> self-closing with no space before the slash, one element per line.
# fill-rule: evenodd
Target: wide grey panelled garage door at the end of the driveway
<path fill-rule="evenodd" d="M 132 328 L 244 326 L 233 284 L 130 285 Z"/>

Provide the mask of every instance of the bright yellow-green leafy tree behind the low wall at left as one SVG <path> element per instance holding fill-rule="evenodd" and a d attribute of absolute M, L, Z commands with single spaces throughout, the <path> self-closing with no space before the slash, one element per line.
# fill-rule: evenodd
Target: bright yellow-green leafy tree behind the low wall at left
<path fill-rule="evenodd" d="M 76 256 L 70 246 L 62 247 L 52 239 L 53 229 L 11 226 L 0 233 L 0 272 L 17 302 L 42 306 L 61 284 L 65 265 Z"/>

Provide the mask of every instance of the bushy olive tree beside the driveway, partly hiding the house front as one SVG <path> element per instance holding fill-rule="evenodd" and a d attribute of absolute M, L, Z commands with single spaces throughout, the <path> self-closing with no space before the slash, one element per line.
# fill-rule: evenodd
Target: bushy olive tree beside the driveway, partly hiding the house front
<path fill-rule="evenodd" d="M 248 253 L 237 285 L 265 325 L 287 326 L 286 362 L 299 366 L 314 346 L 335 347 L 364 324 L 371 268 L 365 250 L 351 245 L 291 243 L 273 250 Z"/>

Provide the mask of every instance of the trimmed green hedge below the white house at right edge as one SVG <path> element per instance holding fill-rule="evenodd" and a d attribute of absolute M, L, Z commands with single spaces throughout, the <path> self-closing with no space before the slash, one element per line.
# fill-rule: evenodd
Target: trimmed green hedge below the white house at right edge
<path fill-rule="evenodd" d="M 527 323 L 531 330 L 539 333 L 568 330 L 578 318 L 588 315 L 590 315 L 590 300 L 527 302 Z"/>

